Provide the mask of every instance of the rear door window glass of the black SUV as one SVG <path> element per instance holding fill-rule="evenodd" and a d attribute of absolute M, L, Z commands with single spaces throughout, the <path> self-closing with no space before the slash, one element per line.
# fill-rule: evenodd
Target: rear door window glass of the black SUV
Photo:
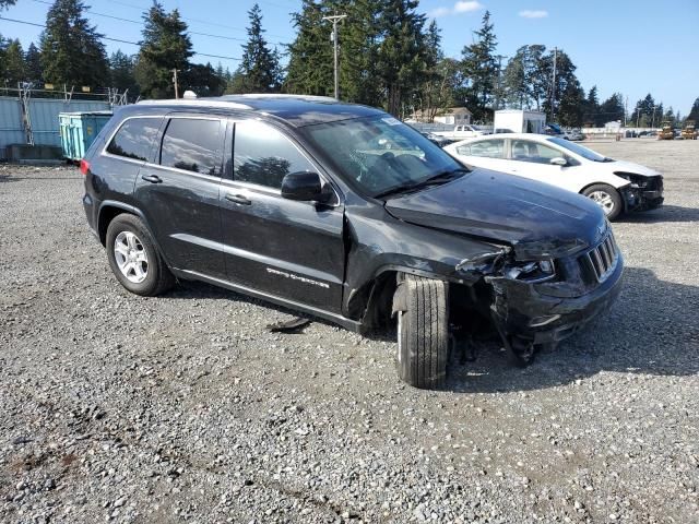
<path fill-rule="evenodd" d="M 221 176 L 223 136 L 220 120 L 170 119 L 161 148 L 161 165 Z"/>

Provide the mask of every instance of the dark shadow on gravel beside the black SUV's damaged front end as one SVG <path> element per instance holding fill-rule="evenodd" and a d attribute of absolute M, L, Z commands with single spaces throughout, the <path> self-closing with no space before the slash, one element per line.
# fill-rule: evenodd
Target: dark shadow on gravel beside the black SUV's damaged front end
<path fill-rule="evenodd" d="M 452 368 L 447 390 L 496 393 L 565 385 L 602 371 L 688 377 L 699 374 L 699 287 L 660 281 L 627 267 L 612 310 L 557 349 L 513 368 L 495 343 L 474 362 Z"/>

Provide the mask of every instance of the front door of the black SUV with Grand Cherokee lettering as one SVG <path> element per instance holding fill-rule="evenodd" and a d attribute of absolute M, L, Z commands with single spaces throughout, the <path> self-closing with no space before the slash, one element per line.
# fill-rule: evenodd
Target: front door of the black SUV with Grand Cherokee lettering
<path fill-rule="evenodd" d="M 316 171 L 288 134 L 259 120 L 230 122 L 232 169 L 222 181 L 221 213 L 228 278 L 268 295 L 339 312 L 345 250 L 344 205 L 281 195 L 282 179 Z"/>

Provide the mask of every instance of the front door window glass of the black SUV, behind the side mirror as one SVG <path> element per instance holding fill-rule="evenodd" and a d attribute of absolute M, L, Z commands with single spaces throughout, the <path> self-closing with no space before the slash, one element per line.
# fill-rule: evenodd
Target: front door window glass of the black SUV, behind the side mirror
<path fill-rule="evenodd" d="M 286 136 L 262 122 L 237 122 L 233 148 L 237 181 L 280 189 L 287 174 L 316 170 Z"/>

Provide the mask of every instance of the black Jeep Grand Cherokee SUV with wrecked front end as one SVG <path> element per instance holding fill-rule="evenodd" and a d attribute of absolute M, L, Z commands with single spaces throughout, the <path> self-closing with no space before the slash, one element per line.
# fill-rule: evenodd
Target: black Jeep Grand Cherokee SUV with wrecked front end
<path fill-rule="evenodd" d="M 394 322 L 399 374 L 418 388 L 487 330 L 526 365 L 619 289 L 591 200 L 469 170 L 390 115 L 330 98 L 128 106 L 81 170 L 87 222 L 130 291 L 196 279 L 363 333 Z"/>

